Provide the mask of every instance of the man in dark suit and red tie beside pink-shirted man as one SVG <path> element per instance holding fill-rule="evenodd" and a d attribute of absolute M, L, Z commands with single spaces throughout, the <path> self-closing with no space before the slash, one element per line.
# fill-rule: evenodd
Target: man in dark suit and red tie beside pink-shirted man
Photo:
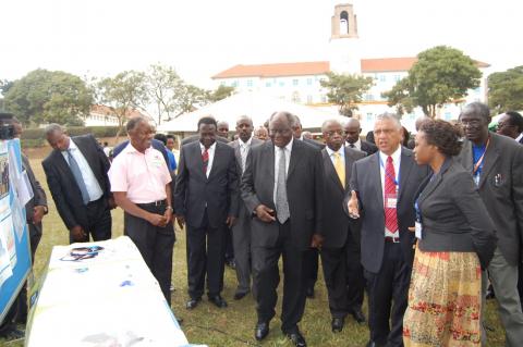
<path fill-rule="evenodd" d="M 238 173 L 234 150 L 216 140 L 216 120 L 198 121 L 199 141 L 182 146 L 174 193 L 174 210 L 181 227 L 187 224 L 187 309 L 194 309 L 204 294 L 218 308 L 221 297 L 226 228 L 238 215 Z M 206 247 L 207 244 L 207 247 Z"/>

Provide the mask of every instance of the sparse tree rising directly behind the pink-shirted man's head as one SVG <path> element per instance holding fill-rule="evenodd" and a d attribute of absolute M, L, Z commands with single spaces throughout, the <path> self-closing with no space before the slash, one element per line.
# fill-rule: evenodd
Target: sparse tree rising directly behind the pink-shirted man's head
<path fill-rule="evenodd" d="M 118 119 L 117 139 L 130 112 L 144 109 L 149 100 L 145 74 L 132 70 L 99 80 L 96 90 L 98 101 L 109 106 Z"/>

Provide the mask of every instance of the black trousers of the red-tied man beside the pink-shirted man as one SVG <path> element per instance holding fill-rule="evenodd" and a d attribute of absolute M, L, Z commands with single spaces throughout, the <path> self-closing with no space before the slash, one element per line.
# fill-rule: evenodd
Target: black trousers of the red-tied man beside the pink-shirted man
<path fill-rule="evenodd" d="M 199 299 L 204 295 L 206 277 L 208 296 L 219 295 L 223 290 L 226 233 L 226 224 L 217 228 L 209 226 L 207 211 L 200 227 L 187 224 L 187 282 L 191 298 Z"/>

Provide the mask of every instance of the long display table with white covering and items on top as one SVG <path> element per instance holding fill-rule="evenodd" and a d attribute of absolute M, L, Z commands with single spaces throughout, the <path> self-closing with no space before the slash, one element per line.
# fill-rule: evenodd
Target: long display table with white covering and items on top
<path fill-rule="evenodd" d="M 26 345 L 188 346 L 133 241 L 54 246 Z"/>

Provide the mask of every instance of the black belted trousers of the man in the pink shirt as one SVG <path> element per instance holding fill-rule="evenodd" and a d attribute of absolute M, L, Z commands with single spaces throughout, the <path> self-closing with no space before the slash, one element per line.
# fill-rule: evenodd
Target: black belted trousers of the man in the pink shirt
<path fill-rule="evenodd" d="M 166 212 L 166 206 L 148 207 L 138 205 L 138 207 L 151 213 L 163 214 Z M 125 212 L 123 214 L 123 231 L 124 235 L 129 236 L 138 248 L 170 306 L 172 249 L 175 241 L 172 221 L 165 227 L 160 227 Z"/>

